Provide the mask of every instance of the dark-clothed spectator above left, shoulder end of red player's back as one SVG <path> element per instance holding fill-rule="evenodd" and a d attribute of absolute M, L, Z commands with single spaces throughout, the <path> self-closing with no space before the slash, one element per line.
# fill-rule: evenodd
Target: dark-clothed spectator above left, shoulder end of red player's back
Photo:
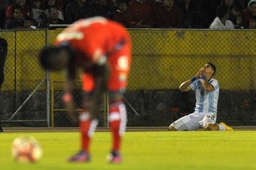
<path fill-rule="evenodd" d="M 76 0 L 66 6 L 66 22 L 71 24 L 82 18 L 92 16 L 91 4 L 88 0 Z"/>

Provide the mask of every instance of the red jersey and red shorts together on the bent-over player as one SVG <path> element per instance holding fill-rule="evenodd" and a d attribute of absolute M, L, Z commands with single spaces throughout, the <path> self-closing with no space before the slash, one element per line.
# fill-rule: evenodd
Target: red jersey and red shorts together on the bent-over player
<path fill-rule="evenodd" d="M 110 76 L 108 90 L 124 90 L 131 62 L 131 42 L 127 30 L 117 22 L 102 17 L 81 19 L 57 36 L 55 45 L 68 41 L 76 52 L 77 67 L 89 62 L 108 63 Z M 80 54 L 82 53 L 82 54 Z M 90 72 L 82 75 L 83 89 L 94 89 L 94 77 Z"/>

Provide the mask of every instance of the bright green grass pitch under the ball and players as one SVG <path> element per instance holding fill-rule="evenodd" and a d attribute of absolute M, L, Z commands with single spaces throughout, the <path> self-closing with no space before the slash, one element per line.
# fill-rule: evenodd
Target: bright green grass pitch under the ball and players
<path fill-rule="evenodd" d="M 34 164 L 16 163 L 10 149 L 21 135 L 34 136 L 43 158 Z M 0 169 L 256 169 L 256 131 L 127 132 L 123 163 L 110 165 L 109 132 L 96 132 L 90 163 L 68 163 L 79 149 L 78 132 L 6 132 L 0 134 Z"/>

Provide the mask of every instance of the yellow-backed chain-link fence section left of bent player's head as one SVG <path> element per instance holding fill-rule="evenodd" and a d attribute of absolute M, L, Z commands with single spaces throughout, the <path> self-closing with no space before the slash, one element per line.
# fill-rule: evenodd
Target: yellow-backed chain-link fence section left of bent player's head
<path fill-rule="evenodd" d="M 8 47 L 0 90 L 3 126 L 47 126 L 46 74 L 37 60 L 46 30 L 1 31 L 0 37 Z"/>

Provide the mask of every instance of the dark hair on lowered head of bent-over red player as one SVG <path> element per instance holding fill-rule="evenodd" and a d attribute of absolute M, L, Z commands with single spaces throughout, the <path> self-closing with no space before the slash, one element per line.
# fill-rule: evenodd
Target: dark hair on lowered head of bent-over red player
<path fill-rule="evenodd" d="M 41 66 L 43 66 L 44 69 L 56 70 L 53 64 L 54 62 L 52 61 L 59 57 L 60 50 L 59 47 L 46 47 L 42 49 L 39 54 Z"/>

